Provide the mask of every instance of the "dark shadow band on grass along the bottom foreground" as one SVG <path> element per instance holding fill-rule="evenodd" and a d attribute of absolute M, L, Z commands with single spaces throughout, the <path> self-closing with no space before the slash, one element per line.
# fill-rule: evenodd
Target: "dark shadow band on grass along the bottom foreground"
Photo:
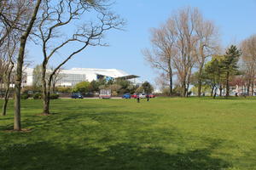
<path fill-rule="evenodd" d="M 217 147 L 169 154 L 157 147 L 143 148 L 135 144 L 110 145 L 103 150 L 87 145 L 14 144 L 0 150 L 0 169 L 98 170 L 98 169 L 222 169 L 231 165 L 211 156 Z"/>

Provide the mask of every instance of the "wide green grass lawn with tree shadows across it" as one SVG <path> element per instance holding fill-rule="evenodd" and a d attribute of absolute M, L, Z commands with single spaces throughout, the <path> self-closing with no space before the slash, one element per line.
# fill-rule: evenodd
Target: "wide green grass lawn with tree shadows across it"
<path fill-rule="evenodd" d="M 256 169 L 256 99 L 13 101 L 0 116 L 1 170 Z M 0 106 L 2 101 L 0 101 Z"/>

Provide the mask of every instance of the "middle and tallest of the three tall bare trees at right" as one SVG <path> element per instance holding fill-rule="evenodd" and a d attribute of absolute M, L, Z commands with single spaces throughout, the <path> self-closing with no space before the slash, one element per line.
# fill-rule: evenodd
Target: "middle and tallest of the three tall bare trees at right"
<path fill-rule="evenodd" d="M 177 31 L 177 55 L 173 58 L 173 64 L 181 82 L 183 97 L 188 95 L 192 68 L 195 65 L 195 47 L 198 41 L 195 25 L 199 16 L 197 8 L 183 8 L 172 15 Z"/>

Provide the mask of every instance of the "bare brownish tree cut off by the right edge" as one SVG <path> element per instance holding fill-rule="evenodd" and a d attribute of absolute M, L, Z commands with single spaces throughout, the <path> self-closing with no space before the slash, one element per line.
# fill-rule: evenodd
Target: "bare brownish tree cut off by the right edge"
<path fill-rule="evenodd" d="M 254 82 L 256 77 L 256 35 L 248 37 L 241 42 L 242 70 L 247 81 L 247 95 L 253 95 Z M 250 88 L 251 94 L 250 94 Z"/>

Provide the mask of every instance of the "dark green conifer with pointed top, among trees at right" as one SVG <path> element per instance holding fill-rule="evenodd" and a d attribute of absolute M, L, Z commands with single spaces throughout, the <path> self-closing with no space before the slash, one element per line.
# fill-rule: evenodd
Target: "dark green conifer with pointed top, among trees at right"
<path fill-rule="evenodd" d="M 238 72 L 237 62 L 241 55 L 241 50 L 237 49 L 236 46 L 231 45 L 227 49 L 224 59 L 222 60 L 225 73 L 226 82 L 226 98 L 230 96 L 230 77 Z"/>

